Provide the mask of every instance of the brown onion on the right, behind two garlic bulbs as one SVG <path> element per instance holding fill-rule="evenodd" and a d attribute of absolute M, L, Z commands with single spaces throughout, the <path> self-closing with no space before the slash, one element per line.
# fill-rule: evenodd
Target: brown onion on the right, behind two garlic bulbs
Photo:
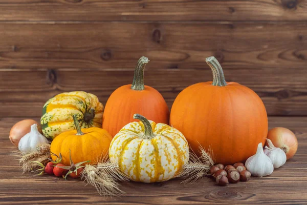
<path fill-rule="evenodd" d="M 282 149 L 287 160 L 292 158 L 297 151 L 297 138 L 291 130 L 287 128 L 273 128 L 268 133 L 268 139 L 271 139 L 273 145 Z"/>

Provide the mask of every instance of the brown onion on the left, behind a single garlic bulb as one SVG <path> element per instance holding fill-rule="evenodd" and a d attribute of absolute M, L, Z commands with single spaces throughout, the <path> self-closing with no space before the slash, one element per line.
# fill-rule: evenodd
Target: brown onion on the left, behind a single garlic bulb
<path fill-rule="evenodd" d="M 18 147 L 19 140 L 21 137 L 25 136 L 27 133 L 31 131 L 31 125 L 36 124 L 38 132 L 41 133 L 41 127 L 40 124 L 37 123 L 37 121 L 33 119 L 24 119 L 21 121 L 18 121 L 10 131 L 10 140 L 11 142 Z"/>

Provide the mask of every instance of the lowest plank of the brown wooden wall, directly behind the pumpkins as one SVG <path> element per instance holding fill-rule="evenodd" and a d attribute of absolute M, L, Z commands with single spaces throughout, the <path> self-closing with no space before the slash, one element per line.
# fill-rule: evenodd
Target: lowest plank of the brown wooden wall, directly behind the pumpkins
<path fill-rule="evenodd" d="M 148 66 L 149 67 L 149 66 Z M 98 96 L 105 105 L 118 87 L 131 84 L 134 69 L 125 70 L 0 70 L 0 116 L 41 116 L 46 101 L 61 92 L 82 90 Z M 226 69 L 227 81 L 253 89 L 269 115 L 307 115 L 307 78 L 303 69 Z M 295 79 L 295 80 L 293 80 Z M 145 69 L 145 84 L 156 88 L 169 109 L 186 87 L 212 80 L 203 69 Z"/>

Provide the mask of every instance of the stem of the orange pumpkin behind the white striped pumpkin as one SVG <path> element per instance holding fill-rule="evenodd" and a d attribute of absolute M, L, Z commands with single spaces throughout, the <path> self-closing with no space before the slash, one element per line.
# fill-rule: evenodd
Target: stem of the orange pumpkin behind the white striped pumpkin
<path fill-rule="evenodd" d="M 133 76 L 132 90 L 144 90 L 144 69 L 148 62 L 149 60 L 145 56 L 140 57 Z"/>

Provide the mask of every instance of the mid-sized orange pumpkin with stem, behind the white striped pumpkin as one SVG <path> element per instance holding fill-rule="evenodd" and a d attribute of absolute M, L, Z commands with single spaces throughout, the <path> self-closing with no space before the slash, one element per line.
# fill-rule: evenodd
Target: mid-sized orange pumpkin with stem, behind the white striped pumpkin
<path fill-rule="evenodd" d="M 148 61 L 148 58 L 141 57 L 135 68 L 132 85 L 119 87 L 106 102 L 102 128 L 113 137 L 129 122 L 137 121 L 133 119 L 135 113 L 157 123 L 169 122 L 169 110 L 162 95 L 156 89 L 144 85 L 144 68 Z"/>

